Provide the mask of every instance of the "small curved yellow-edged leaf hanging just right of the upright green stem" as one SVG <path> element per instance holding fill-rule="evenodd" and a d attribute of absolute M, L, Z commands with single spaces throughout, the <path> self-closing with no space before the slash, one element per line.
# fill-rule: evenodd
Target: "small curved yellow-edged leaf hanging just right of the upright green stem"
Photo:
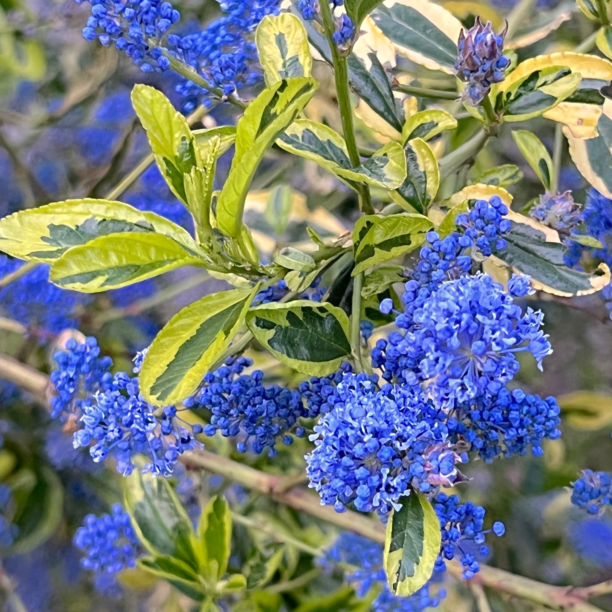
<path fill-rule="evenodd" d="M 422 138 L 414 138 L 405 146 L 406 179 L 390 194 L 392 200 L 409 212 L 425 212 L 436 197 L 440 172 L 436 157 Z"/>

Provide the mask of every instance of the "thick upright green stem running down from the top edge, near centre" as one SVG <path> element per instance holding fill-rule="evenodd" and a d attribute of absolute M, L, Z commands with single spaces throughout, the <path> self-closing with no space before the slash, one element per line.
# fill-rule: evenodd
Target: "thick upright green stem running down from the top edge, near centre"
<path fill-rule="evenodd" d="M 357 148 L 357 140 L 355 138 L 355 126 L 353 124 L 353 105 L 351 104 L 351 92 L 348 86 L 348 64 L 346 58 L 338 53 L 332 34 L 334 33 L 334 18 L 332 11 L 327 2 L 319 4 L 321 9 L 321 17 L 323 17 L 323 25 L 327 36 L 327 42 L 332 52 L 332 61 L 334 62 L 334 79 L 336 83 L 336 95 L 338 98 L 338 109 L 340 110 L 340 119 L 342 121 L 342 132 L 346 142 L 346 150 L 348 151 L 349 159 L 353 168 L 361 165 L 359 157 L 359 149 Z M 370 188 L 365 184 L 359 184 L 359 200 L 360 207 L 367 215 L 374 214 L 374 207 L 370 196 Z"/>

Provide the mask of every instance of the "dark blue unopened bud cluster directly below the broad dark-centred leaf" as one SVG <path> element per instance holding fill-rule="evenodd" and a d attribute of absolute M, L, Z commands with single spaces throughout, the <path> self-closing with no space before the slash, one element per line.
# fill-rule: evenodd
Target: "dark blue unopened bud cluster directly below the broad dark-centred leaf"
<path fill-rule="evenodd" d="M 237 449 L 268 454 L 276 453 L 275 444 L 280 437 L 283 444 L 293 443 L 293 435 L 302 438 L 300 417 L 316 416 L 305 408 L 296 390 L 278 385 L 264 386 L 263 372 L 255 370 L 250 375 L 242 374 L 253 365 L 252 359 L 239 357 L 226 360 L 225 365 L 204 376 L 196 395 L 183 401 L 188 409 L 205 408 L 212 413 L 211 422 L 203 431 L 213 436 L 220 431 L 223 436 L 237 436 Z M 200 426 L 193 430 L 198 433 Z"/>

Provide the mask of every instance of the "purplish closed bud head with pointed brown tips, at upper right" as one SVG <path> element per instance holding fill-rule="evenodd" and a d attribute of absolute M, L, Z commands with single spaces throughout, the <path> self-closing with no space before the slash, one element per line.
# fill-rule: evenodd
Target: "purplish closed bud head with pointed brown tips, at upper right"
<path fill-rule="evenodd" d="M 472 106 L 482 102 L 493 83 L 504 80 L 504 70 L 510 64 L 510 59 L 502 55 L 507 29 L 506 24 L 501 34 L 495 34 L 491 22 L 483 25 L 480 17 L 467 32 L 461 29 L 455 71 L 467 83 L 463 99 Z"/>

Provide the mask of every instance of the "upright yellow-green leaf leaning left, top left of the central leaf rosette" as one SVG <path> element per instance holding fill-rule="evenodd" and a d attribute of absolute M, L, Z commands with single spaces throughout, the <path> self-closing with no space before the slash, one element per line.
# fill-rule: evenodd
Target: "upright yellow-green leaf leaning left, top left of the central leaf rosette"
<path fill-rule="evenodd" d="M 132 105 L 149 138 L 155 162 L 168 187 L 187 204 L 183 175 L 201 166 L 190 127 L 162 92 L 138 84 L 132 89 Z"/>

